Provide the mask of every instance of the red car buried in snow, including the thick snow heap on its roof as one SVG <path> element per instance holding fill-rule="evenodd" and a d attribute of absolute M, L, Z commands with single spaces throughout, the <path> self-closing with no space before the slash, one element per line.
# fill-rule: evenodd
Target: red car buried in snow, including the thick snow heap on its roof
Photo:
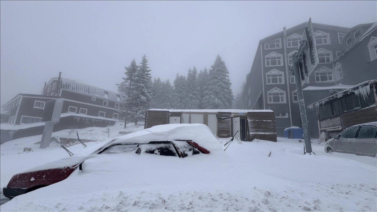
<path fill-rule="evenodd" d="M 201 154 L 210 155 L 220 151 L 224 152 L 210 129 L 204 124 L 159 125 L 112 140 L 88 156 L 67 157 L 15 174 L 8 185 L 3 188 L 3 193 L 12 199 L 18 195 L 58 183 L 67 179 L 75 171 L 87 171 L 85 164 L 90 164 L 90 161 L 98 164 L 98 161 L 107 161 L 103 163 L 105 168 L 109 163 L 118 163 L 118 160 L 130 161 L 130 158 L 152 163 L 153 161 L 150 160 L 156 160 L 156 156 L 153 158 L 146 156 L 150 154 L 173 156 L 169 158 L 180 159 L 190 156 L 197 157 Z M 113 155 L 118 155 L 116 161 L 112 161 Z M 138 158 L 134 158 L 133 155 Z M 179 163 L 179 161 L 177 162 Z M 125 167 L 122 168 L 130 167 L 127 163 L 123 163 L 123 165 Z M 179 166 L 179 164 L 174 166 Z M 97 167 L 101 167 L 101 165 Z"/>

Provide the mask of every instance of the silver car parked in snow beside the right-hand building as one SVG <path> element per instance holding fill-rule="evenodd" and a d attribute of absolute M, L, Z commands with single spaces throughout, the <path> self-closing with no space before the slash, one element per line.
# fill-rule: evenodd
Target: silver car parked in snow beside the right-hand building
<path fill-rule="evenodd" d="M 377 122 L 356 124 L 326 141 L 325 152 L 377 157 Z"/>

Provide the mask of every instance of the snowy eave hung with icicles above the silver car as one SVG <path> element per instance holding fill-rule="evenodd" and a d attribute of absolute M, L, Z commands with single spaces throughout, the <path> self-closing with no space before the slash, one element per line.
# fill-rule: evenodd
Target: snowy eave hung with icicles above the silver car
<path fill-rule="evenodd" d="M 370 85 L 377 83 L 376 80 L 367 80 L 362 83 L 359 83 L 355 86 L 352 86 L 351 88 L 345 89 L 343 91 L 337 92 L 334 95 L 331 95 L 329 97 L 323 98 L 322 100 L 316 101 L 313 104 L 309 104 L 308 108 L 313 109 L 313 106 L 319 107 L 320 104 L 325 104 L 328 101 L 331 101 L 336 98 L 340 98 L 345 94 L 349 94 L 351 92 L 354 92 L 356 95 L 362 95 L 364 98 L 371 92 Z"/>

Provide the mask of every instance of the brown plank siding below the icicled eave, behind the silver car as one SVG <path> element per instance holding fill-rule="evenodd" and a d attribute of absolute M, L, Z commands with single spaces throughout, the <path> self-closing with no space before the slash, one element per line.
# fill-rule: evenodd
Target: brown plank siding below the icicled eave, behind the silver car
<path fill-rule="evenodd" d="M 377 106 L 350 111 L 340 115 L 343 129 L 355 124 L 377 121 Z"/>

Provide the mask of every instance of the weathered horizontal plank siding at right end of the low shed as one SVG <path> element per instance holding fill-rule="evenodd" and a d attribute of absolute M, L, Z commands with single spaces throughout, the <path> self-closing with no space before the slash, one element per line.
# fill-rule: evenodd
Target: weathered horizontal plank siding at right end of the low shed
<path fill-rule="evenodd" d="M 248 112 L 248 141 L 254 139 L 276 142 L 276 121 L 274 112 Z"/>

